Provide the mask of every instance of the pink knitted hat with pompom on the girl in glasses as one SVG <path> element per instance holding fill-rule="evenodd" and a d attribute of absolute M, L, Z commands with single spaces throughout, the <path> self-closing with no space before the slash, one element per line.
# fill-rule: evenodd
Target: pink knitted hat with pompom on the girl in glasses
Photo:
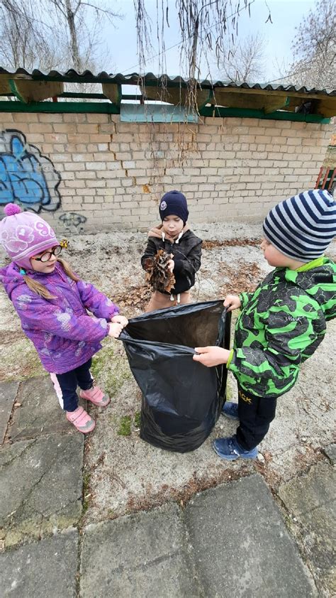
<path fill-rule="evenodd" d="M 31 270 L 30 257 L 58 245 L 52 228 L 32 212 L 21 212 L 16 204 L 7 204 L 6 217 L 0 222 L 0 243 L 9 257 L 25 270 Z"/>

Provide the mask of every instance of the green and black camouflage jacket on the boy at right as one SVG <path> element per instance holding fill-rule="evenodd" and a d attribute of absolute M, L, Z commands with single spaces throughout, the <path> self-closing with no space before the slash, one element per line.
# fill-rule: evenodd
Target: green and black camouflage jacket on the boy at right
<path fill-rule="evenodd" d="M 252 395 L 281 396 L 336 316 L 336 264 L 319 258 L 298 270 L 276 268 L 240 300 L 227 367 Z"/>

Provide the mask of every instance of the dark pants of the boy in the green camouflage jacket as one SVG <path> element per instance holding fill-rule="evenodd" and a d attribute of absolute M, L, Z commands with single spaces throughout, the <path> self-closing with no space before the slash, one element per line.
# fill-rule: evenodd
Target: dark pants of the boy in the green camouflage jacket
<path fill-rule="evenodd" d="M 267 435 L 275 411 L 276 397 L 253 396 L 238 387 L 238 444 L 245 450 L 252 450 L 259 445 Z"/>

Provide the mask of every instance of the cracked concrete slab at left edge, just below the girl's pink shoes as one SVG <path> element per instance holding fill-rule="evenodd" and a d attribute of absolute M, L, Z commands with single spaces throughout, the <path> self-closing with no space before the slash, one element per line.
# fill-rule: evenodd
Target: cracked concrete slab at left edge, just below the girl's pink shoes
<path fill-rule="evenodd" d="M 52 435 L 0 450 L 0 537 L 5 545 L 77 523 L 84 437 Z"/>

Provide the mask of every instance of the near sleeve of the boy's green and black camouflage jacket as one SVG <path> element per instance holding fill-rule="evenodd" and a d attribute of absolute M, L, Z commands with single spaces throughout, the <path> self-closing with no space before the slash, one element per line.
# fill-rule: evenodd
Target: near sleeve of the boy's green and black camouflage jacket
<path fill-rule="evenodd" d="M 290 373 L 298 369 L 305 349 L 311 344 L 320 344 L 324 334 L 320 332 L 320 319 L 323 312 L 311 298 L 302 295 L 296 297 L 296 310 L 292 315 L 288 306 L 275 305 L 269 309 L 265 319 L 264 349 L 240 347 L 233 350 L 228 369 L 236 374 L 251 378 L 286 379 Z M 318 325 L 315 326 L 315 322 Z"/>

